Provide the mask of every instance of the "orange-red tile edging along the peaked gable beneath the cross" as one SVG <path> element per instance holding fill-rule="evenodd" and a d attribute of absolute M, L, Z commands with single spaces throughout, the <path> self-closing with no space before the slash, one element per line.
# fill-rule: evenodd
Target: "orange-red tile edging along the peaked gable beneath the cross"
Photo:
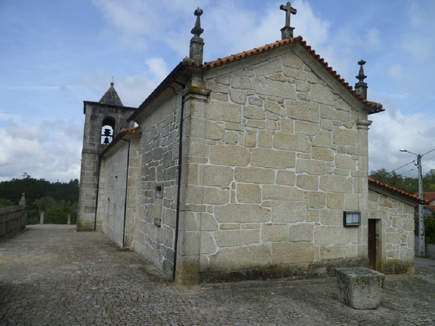
<path fill-rule="evenodd" d="M 346 83 L 344 78 L 341 78 L 340 75 L 337 74 L 337 71 L 333 70 L 332 67 L 328 66 L 328 63 L 325 62 L 325 59 L 321 58 L 319 54 L 316 54 L 315 51 L 313 49 L 311 49 L 311 47 L 309 45 L 307 45 L 307 43 L 302 39 L 302 36 L 296 36 L 296 37 L 289 38 L 289 39 L 277 40 L 275 43 L 266 44 L 263 47 L 254 48 L 252 50 L 243 51 L 243 52 L 240 52 L 237 54 L 232 54 L 232 55 L 226 56 L 224 58 L 217 58 L 216 60 L 213 60 L 210 62 L 205 62 L 204 64 L 201 64 L 201 65 L 197 65 L 195 62 L 193 62 L 192 59 L 190 59 L 188 57 L 184 58 L 183 62 L 190 64 L 192 66 L 198 66 L 198 67 L 204 67 L 204 68 L 213 68 L 213 67 L 225 64 L 225 63 L 233 62 L 235 60 L 250 56 L 250 55 L 255 54 L 255 53 L 268 51 L 270 49 L 278 48 L 278 47 L 283 46 L 285 44 L 295 43 L 295 42 L 302 45 L 308 51 L 308 53 L 311 54 L 326 69 L 326 71 L 328 71 L 332 75 L 332 77 L 337 79 L 339 81 L 339 83 L 341 83 L 354 97 L 356 97 L 358 100 L 360 100 L 363 104 L 373 108 L 373 110 L 371 110 L 369 112 L 369 114 L 385 111 L 382 108 L 382 104 L 368 101 L 368 100 L 364 99 L 360 94 L 358 94 L 357 91 L 355 91 L 352 88 L 352 86 L 349 85 L 349 83 Z"/>

